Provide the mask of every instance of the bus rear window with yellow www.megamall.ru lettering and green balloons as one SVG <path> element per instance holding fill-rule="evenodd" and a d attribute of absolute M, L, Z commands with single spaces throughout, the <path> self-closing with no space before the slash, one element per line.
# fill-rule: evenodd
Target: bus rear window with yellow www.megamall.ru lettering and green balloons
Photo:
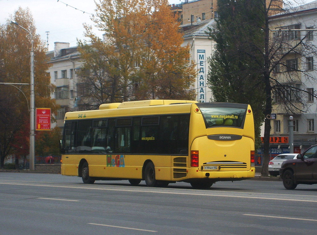
<path fill-rule="evenodd" d="M 206 127 L 232 126 L 242 127 L 246 108 L 200 107 Z"/>

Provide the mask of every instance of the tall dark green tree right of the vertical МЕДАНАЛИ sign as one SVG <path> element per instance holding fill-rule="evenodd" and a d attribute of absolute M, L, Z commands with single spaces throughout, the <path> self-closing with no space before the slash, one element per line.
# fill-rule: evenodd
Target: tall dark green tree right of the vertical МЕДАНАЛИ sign
<path fill-rule="evenodd" d="M 217 42 L 209 59 L 208 84 L 217 102 L 250 104 L 254 113 L 256 147 L 264 120 L 263 5 L 254 0 L 218 0 L 219 18 L 210 37 Z M 262 17 L 262 18 L 261 18 Z"/>

